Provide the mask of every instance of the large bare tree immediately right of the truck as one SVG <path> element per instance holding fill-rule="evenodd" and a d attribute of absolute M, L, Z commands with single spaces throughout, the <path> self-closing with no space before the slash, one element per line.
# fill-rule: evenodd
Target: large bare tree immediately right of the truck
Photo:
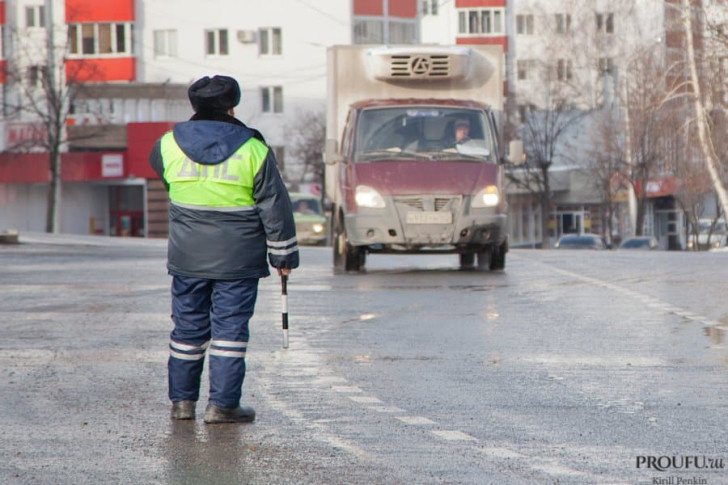
<path fill-rule="evenodd" d="M 533 61 L 517 62 L 516 76 L 525 80 L 524 67 L 529 67 L 528 62 L 537 63 L 539 82 L 531 92 L 518 93 L 523 120 L 519 133 L 528 158 L 525 167 L 510 178 L 512 184 L 539 198 L 542 247 L 548 247 L 551 168 L 564 162 L 589 163 L 585 160 L 589 149 L 570 146 L 569 140 L 578 137 L 581 122 L 592 110 L 615 95 L 614 56 L 624 49 L 621 42 L 615 42 L 615 29 L 624 28 L 635 7 L 633 0 L 613 0 L 605 5 L 608 7 L 600 9 L 583 0 L 534 3 L 540 42 L 530 46 Z M 611 86 L 605 82 L 607 78 Z M 607 160 L 601 159 L 603 162 Z M 607 174 L 603 175 L 603 182 L 608 182 Z M 603 190 L 607 189 L 604 185 Z"/>

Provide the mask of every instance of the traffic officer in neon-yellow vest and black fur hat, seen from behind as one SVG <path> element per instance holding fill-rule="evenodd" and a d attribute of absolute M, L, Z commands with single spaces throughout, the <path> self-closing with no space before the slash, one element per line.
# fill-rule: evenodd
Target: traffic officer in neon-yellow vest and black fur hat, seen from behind
<path fill-rule="evenodd" d="M 268 262 L 279 275 L 298 267 L 293 211 L 273 151 L 234 118 L 237 81 L 203 77 L 188 94 L 194 116 L 163 135 L 149 157 L 170 199 L 171 415 L 195 418 L 207 353 L 204 421 L 251 422 L 255 410 L 240 405 L 248 321 Z"/>

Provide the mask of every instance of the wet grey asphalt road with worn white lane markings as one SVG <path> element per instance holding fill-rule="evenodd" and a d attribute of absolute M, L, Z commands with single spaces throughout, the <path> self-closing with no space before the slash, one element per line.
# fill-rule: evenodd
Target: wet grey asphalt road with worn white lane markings
<path fill-rule="evenodd" d="M 168 418 L 164 242 L 24 239 L 0 246 L 0 483 L 728 483 L 636 466 L 728 466 L 728 253 L 522 250 L 504 273 L 373 256 L 334 276 L 304 248 L 288 350 L 261 282 L 257 421 L 208 426 Z"/>

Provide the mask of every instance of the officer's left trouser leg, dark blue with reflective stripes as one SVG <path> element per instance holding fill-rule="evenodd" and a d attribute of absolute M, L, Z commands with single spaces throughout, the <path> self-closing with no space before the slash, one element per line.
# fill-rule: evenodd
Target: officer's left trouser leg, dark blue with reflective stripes
<path fill-rule="evenodd" d="M 169 399 L 197 401 L 205 350 L 210 343 L 210 305 L 213 282 L 200 278 L 173 276 L 170 335 Z"/>

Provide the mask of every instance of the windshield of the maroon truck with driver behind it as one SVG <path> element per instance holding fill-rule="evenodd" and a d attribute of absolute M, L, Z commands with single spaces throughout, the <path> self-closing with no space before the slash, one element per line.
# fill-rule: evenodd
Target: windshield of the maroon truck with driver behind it
<path fill-rule="evenodd" d="M 370 108 L 359 115 L 354 161 L 471 160 L 495 163 L 485 113 L 451 107 Z"/>

